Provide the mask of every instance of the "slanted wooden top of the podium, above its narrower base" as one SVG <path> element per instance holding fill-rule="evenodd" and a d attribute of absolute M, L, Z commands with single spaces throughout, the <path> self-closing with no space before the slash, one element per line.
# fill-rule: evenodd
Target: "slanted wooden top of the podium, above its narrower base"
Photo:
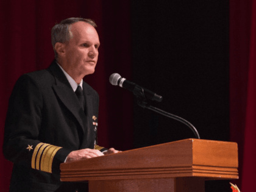
<path fill-rule="evenodd" d="M 141 174 L 141 171 L 147 174 L 151 172 L 153 175 L 157 174 L 157 171 L 162 174 L 169 172 L 169 176 L 174 177 L 179 175 L 236 179 L 237 168 L 236 143 L 199 139 L 157 144 L 60 165 L 61 177 L 80 172 L 88 175 L 87 180 L 93 179 L 93 174 L 97 172 L 111 172 L 114 176 L 118 172 Z"/>

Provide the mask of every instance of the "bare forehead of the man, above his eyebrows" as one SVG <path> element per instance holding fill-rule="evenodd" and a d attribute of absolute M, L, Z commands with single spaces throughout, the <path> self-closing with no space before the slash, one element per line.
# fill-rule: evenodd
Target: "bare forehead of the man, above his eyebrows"
<path fill-rule="evenodd" d="M 71 24 L 69 30 L 73 34 L 74 41 L 91 41 L 94 44 L 99 43 L 99 36 L 96 29 L 84 21 Z"/>

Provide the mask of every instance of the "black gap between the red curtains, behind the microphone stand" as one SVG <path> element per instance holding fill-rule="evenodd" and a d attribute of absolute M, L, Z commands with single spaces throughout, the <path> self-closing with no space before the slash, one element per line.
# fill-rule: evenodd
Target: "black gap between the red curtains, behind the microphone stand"
<path fill-rule="evenodd" d="M 131 7 L 133 82 L 163 96 L 151 105 L 187 119 L 202 139 L 229 141 L 229 1 L 133 1 Z M 137 99 L 133 114 L 135 148 L 195 138 Z M 230 191 L 229 181 L 206 182 L 205 191 Z"/>

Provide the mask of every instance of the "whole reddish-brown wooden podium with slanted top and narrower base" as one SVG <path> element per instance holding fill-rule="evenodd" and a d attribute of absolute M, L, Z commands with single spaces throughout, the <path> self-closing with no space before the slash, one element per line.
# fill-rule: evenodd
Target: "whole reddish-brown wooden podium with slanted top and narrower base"
<path fill-rule="evenodd" d="M 60 180 L 88 180 L 90 192 L 202 192 L 205 180 L 238 179 L 237 168 L 236 143 L 187 139 L 62 163 Z"/>

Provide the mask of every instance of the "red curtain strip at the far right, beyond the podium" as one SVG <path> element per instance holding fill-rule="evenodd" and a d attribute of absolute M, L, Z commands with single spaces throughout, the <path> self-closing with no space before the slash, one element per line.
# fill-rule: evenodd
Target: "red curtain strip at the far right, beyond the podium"
<path fill-rule="evenodd" d="M 256 178 L 256 1 L 230 0 L 230 139 L 238 143 L 241 191 Z"/>

